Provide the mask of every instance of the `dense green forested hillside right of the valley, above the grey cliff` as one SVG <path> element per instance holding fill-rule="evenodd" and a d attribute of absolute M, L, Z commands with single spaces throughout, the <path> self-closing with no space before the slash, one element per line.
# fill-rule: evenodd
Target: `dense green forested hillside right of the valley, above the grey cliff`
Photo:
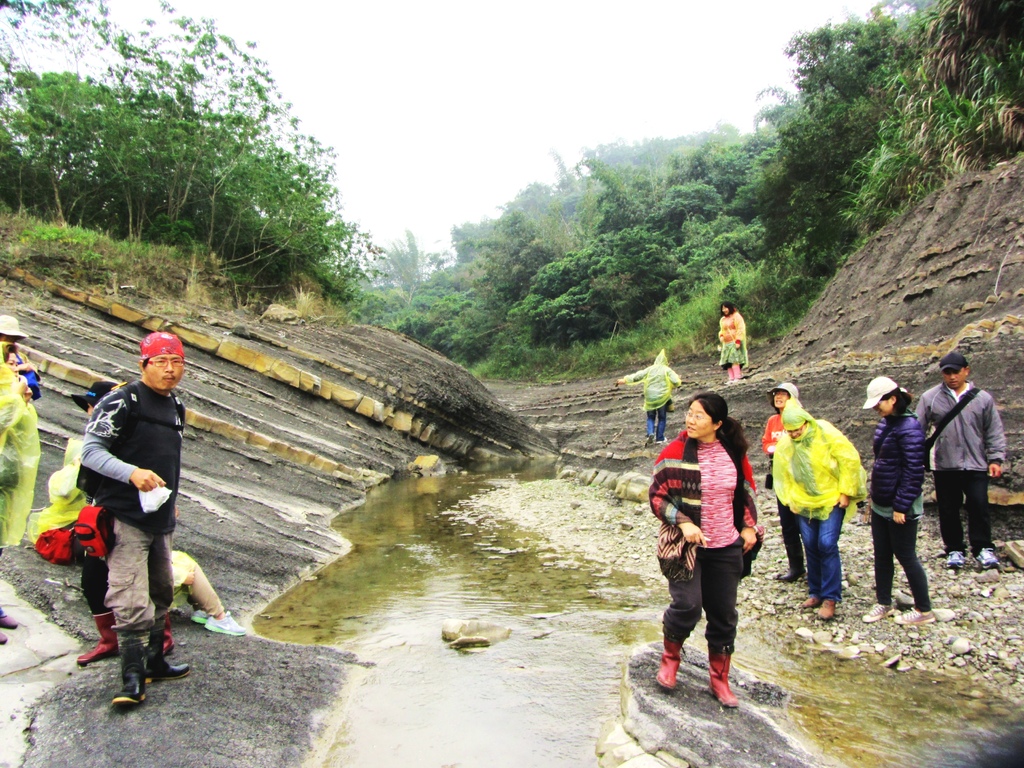
<path fill-rule="evenodd" d="M 753 133 L 556 158 L 556 183 L 455 227 L 443 268 L 392 244 L 367 316 L 493 377 L 677 358 L 715 343 L 722 300 L 757 344 L 894 214 L 1024 147 L 1020 3 L 889 3 L 786 53 L 796 92 L 766 94 Z"/>

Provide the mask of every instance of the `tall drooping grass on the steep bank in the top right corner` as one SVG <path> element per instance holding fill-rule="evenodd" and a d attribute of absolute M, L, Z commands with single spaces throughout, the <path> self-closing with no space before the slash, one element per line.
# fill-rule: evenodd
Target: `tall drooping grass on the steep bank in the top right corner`
<path fill-rule="evenodd" d="M 894 79 L 896 110 L 859 165 L 852 219 L 868 228 L 951 176 L 1024 151 L 1024 6 L 940 0 L 916 20 L 921 63 Z"/>

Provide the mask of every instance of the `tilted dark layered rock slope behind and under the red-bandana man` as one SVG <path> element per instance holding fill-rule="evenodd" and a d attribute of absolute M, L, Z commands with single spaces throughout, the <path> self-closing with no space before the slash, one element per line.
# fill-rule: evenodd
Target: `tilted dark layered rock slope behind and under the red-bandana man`
<path fill-rule="evenodd" d="M 174 546 L 203 566 L 244 626 L 347 553 L 334 517 L 418 456 L 458 466 L 552 452 L 464 370 L 400 335 L 252 319 L 241 328 L 212 311 L 168 317 L 137 301 L 141 319 L 125 322 L 111 313 L 109 297 L 89 306 L 19 281 L 3 284 L 0 313 L 17 315 L 29 335 L 23 347 L 42 371 L 36 508 L 47 503 L 46 480 L 68 438 L 85 424 L 71 395 L 96 378 L 135 378 L 138 340 L 180 324 L 193 334 L 178 390 L 190 413 Z M 94 644 L 79 568 L 50 564 L 25 546 L 6 549 L 0 577 L 80 638 L 83 651 Z M 121 712 L 111 706 L 120 690 L 117 659 L 78 670 L 33 708 L 24 763 L 9 764 L 297 766 L 330 727 L 348 670 L 360 664 L 343 649 L 215 634 L 177 613 L 172 631 L 172 659 L 191 665 L 188 677 L 151 685 L 143 705 Z M 10 746 L 4 760 L 19 751 Z"/>

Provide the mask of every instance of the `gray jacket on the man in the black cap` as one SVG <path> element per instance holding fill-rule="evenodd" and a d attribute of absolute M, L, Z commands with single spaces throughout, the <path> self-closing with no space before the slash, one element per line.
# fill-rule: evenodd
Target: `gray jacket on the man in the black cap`
<path fill-rule="evenodd" d="M 968 383 L 974 389 L 974 384 Z M 932 427 L 956 404 L 945 384 L 932 387 L 918 402 L 918 421 L 931 434 Z M 957 414 L 932 449 L 932 468 L 987 472 L 989 464 L 1007 458 L 1007 436 L 992 395 L 982 390 Z"/>

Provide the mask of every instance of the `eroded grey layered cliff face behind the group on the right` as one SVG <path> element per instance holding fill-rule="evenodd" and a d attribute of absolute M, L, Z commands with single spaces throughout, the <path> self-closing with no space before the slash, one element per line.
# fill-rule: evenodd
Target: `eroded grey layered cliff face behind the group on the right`
<path fill-rule="evenodd" d="M 742 308 L 740 308 L 742 309 Z M 1009 441 L 1009 470 L 991 499 L 1024 504 L 1024 161 L 962 176 L 851 256 L 800 326 L 777 343 L 755 339 L 748 377 L 726 388 L 711 354 L 673 360 L 683 378 L 677 400 L 702 389 L 725 394 L 767 462 L 758 438 L 772 411 L 767 390 L 793 381 L 815 416 L 856 443 L 868 463 L 877 416 L 862 411 L 867 382 L 890 376 L 915 395 L 940 383 L 938 359 L 959 349 L 972 379 L 995 397 Z M 756 318 L 748 317 L 748 323 Z M 649 472 L 637 389 L 601 380 L 495 389 L 554 439 L 579 467 Z M 682 427 L 671 414 L 670 434 Z"/>

